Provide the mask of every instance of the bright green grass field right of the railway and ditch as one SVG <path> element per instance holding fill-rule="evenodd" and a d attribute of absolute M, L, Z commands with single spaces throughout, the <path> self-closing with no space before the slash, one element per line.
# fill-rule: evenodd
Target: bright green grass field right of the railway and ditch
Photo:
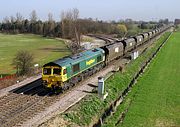
<path fill-rule="evenodd" d="M 133 88 L 123 127 L 180 126 L 180 32 L 174 33 Z"/>

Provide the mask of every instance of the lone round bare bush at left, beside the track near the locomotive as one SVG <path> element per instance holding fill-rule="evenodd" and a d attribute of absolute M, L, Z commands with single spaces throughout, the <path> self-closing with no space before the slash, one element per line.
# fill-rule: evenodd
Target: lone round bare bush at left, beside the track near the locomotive
<path fill-rule="evenodd" d="M 26 50 L 18 51 L 12 63 L 16 66 L 16 73 L 18 75 L 31 74 L 33 70 L 33 60 L 33 55 L 30 52 Z"/>

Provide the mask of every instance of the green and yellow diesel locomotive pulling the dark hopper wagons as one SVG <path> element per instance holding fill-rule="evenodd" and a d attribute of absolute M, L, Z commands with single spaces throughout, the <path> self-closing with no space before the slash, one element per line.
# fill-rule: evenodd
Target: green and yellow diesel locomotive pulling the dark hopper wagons
<path fill-rule="evenodd" d="M 42 68 L 43 86 L 67 89 L 103 67 L 104 50 L 95 48 L 47 63 Z"/>

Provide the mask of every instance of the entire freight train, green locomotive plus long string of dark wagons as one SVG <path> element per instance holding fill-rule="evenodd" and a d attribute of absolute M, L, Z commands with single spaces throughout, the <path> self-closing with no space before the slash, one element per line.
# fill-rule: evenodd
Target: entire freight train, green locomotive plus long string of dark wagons
<path fill-rule="evenodd" d="M 51 90 L 66 90 L 98 72 L 114 59 L 148 42 L 169 27 L 164 26 L 151 32 L 49 62 L 42 68 L 42 84 Z"/>

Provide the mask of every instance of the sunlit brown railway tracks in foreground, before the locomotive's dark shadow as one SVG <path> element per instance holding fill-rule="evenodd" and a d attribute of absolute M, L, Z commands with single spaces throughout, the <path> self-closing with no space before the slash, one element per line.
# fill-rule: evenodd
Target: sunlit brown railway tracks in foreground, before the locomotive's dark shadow
<path fill-rule="evenodd" d="M 61 95 L 45 96 L 10 93 L 0 98 L 1 127 L 21 126 L 24 121 L 42 112 L 59 100 Z"/>

